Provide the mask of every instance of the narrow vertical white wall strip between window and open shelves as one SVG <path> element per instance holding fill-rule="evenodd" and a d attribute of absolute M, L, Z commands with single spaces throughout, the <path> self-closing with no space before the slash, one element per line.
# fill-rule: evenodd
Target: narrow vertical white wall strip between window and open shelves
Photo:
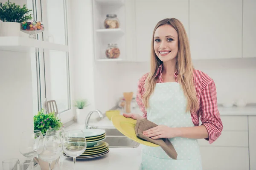
<path fill-rule="evenodd" d="M 94 98 L 94 60 L 93 60 L 93 34 L 92 11 L 90 0 L 70 0 L 70 82 L 73 87 L 73 99 L 88 99 L 89 112 L 95 109 Z M 86 22 L 85 19 L 86 18 Z M 79 22 L 79 28 L 77 26 Z M 74 101 L 71 101 L 74 105 Z"/>

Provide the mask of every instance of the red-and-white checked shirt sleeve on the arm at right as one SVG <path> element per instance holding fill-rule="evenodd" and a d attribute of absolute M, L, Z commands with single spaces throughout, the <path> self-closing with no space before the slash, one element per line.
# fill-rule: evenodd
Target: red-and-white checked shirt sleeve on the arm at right
<path fill-rule="evenodd" d="M 215 82 L 211 79 L 201 91 L 200 99 L 201 122 L 209 133 L 209 144 L 214 142 L 221 135 L 223 125 L 217 106 L 217 94 Z"/>

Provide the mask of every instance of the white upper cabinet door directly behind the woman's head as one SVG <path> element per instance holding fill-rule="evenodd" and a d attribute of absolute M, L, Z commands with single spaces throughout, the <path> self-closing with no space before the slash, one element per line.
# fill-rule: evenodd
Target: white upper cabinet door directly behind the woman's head
<path fill-rule="evenodd" d="M 187 33 L 189 26 L 188 0 L 136 0 L 136 55 L 137 61 L 149 61 L 151 39 L 156 24 L 165 18 L 180 20 Z"/>

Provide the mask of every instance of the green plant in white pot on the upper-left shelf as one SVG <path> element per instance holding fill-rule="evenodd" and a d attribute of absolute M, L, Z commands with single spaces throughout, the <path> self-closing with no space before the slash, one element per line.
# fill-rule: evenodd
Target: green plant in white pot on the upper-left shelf
<path fill-rule="evenodd" d="M 31 20 L 32 9 L 21 7 L 15 3 L 0 3 L 0 36 L 20 36 L 20 23 Z"/>

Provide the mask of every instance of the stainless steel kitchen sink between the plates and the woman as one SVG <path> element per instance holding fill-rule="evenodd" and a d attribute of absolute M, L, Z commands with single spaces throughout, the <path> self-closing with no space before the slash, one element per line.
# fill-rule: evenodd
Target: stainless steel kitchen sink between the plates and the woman
<path fill-rule="evenodd" d="M 98 127 L 99 129 L 102 129 Z M 122 147 L 122 148 L 129 148 L 129 147 L 138 147 L 140 143 L 131 140 L 130 138 L 124 136 L 121 132 L 119 132 L 116 128 L 105 128 L 103 129 L 106 131 L 106 139 L 104 142 L 109 144 L 109 147 Z"/>

